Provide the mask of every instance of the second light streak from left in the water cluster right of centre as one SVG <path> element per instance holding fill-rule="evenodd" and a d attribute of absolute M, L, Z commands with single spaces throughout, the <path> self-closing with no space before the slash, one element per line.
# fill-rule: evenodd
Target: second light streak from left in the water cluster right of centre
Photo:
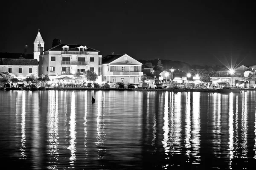
<path fill-rule="evenodd" d="M 175 145 L 175 153 L 180 154 L 181 152 L 181 94 L 177 93 L 175 95 L 175 115 L 174 115 L 174 145 Z"/>

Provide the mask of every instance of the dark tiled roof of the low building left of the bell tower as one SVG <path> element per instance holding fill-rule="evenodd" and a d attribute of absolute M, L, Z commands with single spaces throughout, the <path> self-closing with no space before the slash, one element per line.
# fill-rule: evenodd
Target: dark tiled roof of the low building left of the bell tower
<path fill-rule="evenodd" d="M 0 65 L 38 65 L 37 59 L 0 59 Z"/>

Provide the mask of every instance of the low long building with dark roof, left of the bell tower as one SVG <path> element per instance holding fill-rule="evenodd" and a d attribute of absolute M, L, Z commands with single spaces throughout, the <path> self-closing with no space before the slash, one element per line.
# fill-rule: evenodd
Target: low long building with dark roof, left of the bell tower
<path fill-rule="evenodd" d="M 37 59 L 0 59 L 0 71 L 9 72 L 13 77 L 24 79 L 34 74 L 38 77 Z"/>

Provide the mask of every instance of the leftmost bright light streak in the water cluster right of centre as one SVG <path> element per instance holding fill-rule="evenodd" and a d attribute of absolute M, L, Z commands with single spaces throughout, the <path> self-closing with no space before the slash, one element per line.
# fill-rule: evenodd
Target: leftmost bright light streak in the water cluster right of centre
<path fill-rule="evenodd" d="M 170 159 L 169 153 L 170 153 L 170 146 L 169 146 L 169 102 L 168 102 L 168 92 L 165 92 L 165 99 L 164 99 L 164 111 L 163 111 L 163 148 L 164 152 L 167 156 L 166 159 Z M 167 167 L 168 165 L 166 165 Z"/>

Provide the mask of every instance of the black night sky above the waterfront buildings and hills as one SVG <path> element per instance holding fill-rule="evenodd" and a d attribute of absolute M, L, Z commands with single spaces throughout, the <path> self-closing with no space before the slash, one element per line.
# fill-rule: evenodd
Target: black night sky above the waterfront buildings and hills
<path fill-rule="evenodd" d="M 102 57 L 126 53 L 191 65 L 245 57 L 241 64 L 255 65 L 255 9 L 244 0 L 9 0 L 0 11 L 0 52 L 23 53 L 27 43 L 32 54 L 40 28 L 45 49 L 58 38 Z"/>

